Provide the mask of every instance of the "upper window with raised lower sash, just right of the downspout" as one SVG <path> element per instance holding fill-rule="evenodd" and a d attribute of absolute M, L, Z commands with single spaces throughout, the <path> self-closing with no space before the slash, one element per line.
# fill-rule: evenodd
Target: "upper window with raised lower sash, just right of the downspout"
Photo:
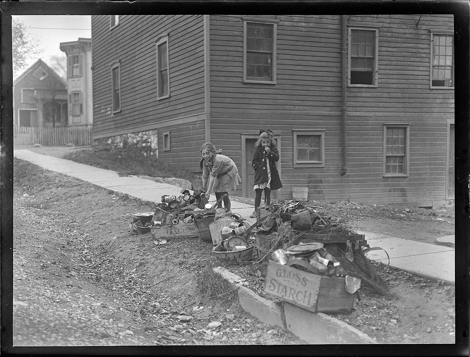
<path fill-rule="evenodd" d="M 375 38 L 375 30 L 351 30 L 350 84 L 374 84 Z"/>

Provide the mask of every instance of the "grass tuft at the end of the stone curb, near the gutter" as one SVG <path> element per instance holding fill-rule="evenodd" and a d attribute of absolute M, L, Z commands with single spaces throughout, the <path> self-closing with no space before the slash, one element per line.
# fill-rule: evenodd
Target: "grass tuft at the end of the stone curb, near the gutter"
<path fill-rule="evenodd" d="M 220 304 L 233 305 L 238 302 L 238 289 L 212 270 L 207 264 L 197 276 L 196 284 L 199 294 L 205 298 L 219 300 Z"/>

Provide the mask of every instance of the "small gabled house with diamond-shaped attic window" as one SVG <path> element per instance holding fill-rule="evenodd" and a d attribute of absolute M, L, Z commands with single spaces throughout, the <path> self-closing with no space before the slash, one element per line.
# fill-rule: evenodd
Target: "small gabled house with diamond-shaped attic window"
<path fill-rule="evenodd" d="M 13 121 L 22 127 L 67 125 L 67 84 L 40 59 L 13 82 Z"/>

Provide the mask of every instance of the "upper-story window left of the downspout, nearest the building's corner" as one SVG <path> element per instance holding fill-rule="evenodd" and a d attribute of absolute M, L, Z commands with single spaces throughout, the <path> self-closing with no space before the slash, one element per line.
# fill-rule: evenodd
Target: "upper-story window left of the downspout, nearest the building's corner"
<path fill-rule="evenodd" d="M 273 80 L 273 25 L 246 24 L 246 77 Z"/>

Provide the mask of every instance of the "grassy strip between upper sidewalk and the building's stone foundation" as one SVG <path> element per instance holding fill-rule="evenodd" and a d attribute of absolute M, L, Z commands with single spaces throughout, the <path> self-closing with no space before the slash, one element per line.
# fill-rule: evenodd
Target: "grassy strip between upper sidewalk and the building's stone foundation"
<path fill-rule="evenodd" d="M 120 175 L 147 175 L 151 177 L 177 177 L 188 181 L 200 180 L 201 176 L 180 167 L 159 162 L 155 157 L 145 157 L 132 149 L 111 151 L 106 148 L 91 148 L 71 152 L 63 157 L 82 164 L 113 170 Z"/>

